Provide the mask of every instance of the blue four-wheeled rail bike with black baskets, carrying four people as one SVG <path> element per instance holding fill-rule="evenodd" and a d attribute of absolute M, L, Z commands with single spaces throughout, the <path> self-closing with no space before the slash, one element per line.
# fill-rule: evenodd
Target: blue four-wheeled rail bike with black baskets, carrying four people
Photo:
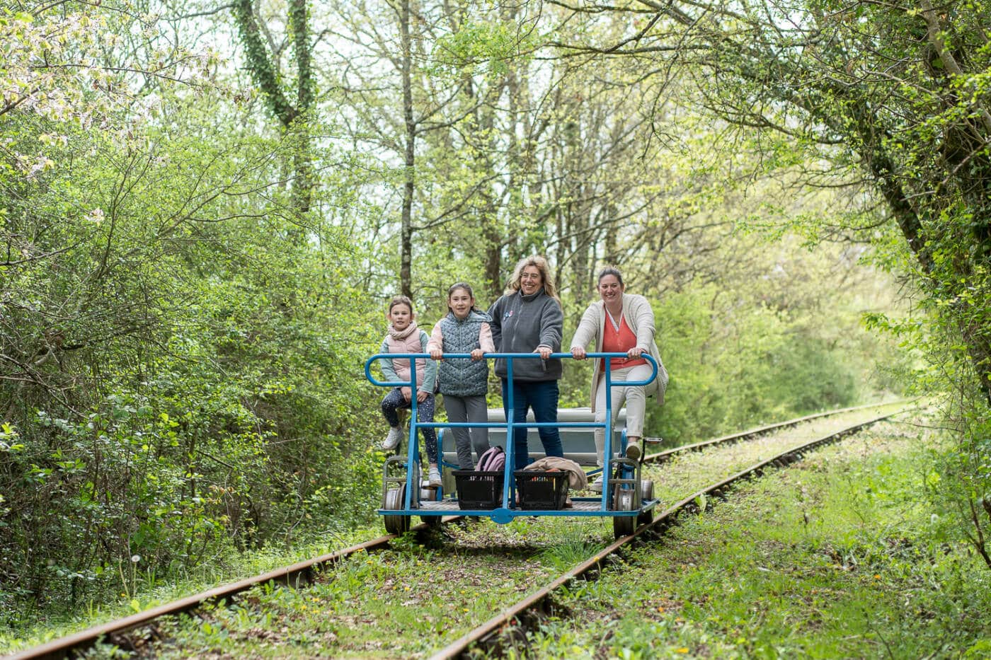
<path fill-rule="evenodd" d="M 589 358 L 622 359 L 625 353 L 589 353 Z M 570 353 L 552 353 L 551 358 L 573 359 Z M 606 410 L 612 410 L 613 386 L 649 385 L 657 378 L 657 363 L 644 353 L 641 356 L 652 368 L 650 378 L 644 381 L 612 381 L 606 362 Z M 372 365 L 382 359 L 408 359 L 409 381 L 383 382 L 372 375 Z M 445 353 L 444 359 L 471 359 L 468 353 Z M 502 358 L 506 361 L 506 377 L 512 381 L 512 366 L 515 360 L 539 360 L 536 353 L 486 353 L 483 359 Z M 410 387 L 416 391 L 416 360 L 430 360 L 426 353 L 380 353 L 365 362 L 365 376 L 373 385 L 382 387 Z M 513 388 L 506 388 L 506 408 L 513 409 Z M 510 415 L 511 417 L 511 415 Z M 612 529 L 616 538 L 631 534 L 640 524 L 651 520 L 651 510 L 658 500 L 653 496 L 653 483 L 640 478 L 640 461 L 626 458 L 626 430 L 614 429 L 612 415 L 597 422 L 588 408 L 559 408 L 557 422 L 537 422 L 532 414 L 524 421 L 505 419 L 502 410 L 490 409 L 487 422 L 421 422 L 417 417 L 416 396 L 411 397 L 408 433 L 405 434 L 405 452 L 399 452 L 385 459 L 383 466 L 382 508 L 378 513 L 384 516 L 385 530 L 390 534 L 402 534 L 409 529 L 412 516 L 418 515 L 429 526 L 439 526 L 445 515 L 488 516 L 498 524 L 507 524 L 521 516 L 598 516 L 612 519 Z M 620 417 L 617 421 L 621 421 Z M 447 429 L 457 427 L 489 429 L 490 445 L 503 446 L 504 467 L 501 470 L 457 470 L 451 463 L 453 453 L 445 452 L 444 441 L 452 433 Z M 569 496 L 567 472 L 533 470 L 513 470 L 515 465 L 513 430 L 527 429 L 527 445 L 534 447 L 536 429 L 556 427 L 560 429 L 564 456 L 579 465 L 588 466 L 587 478 L 602 473 L 602 494 L 597 496 Z M 419 431 L 422 428 L 438 429 L 438 467 L 441 471 L 442 486 L 429 487 L 421 481 Z M 596 467 L 594 434 L 597 428 L 605 428 L 605 465 Z M 452 437 L 453 445 L 453 437 Z M 542 447 L 538 444 L 537 446 Z M 589 447 L 592 451 L 589 451 Z M 542 452 L 530 451 L 530 458 L 542 456 Z M 583 470 L 585 468 L 583 467 Z M 451 477 L 455 477 L 451 488 Z M 448 488 L 445 489 L 445 486 Z"/>

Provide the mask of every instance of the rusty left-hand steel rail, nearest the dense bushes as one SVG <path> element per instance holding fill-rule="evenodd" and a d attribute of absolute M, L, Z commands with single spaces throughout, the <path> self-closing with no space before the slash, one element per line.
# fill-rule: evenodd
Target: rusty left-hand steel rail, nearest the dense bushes
<path fill-rule="evenodd" d="M 804 417 L 797 417 L 795 419 L 787 420 L 784 422 L 777 422 L 775 424 L 769 424 L 766 426 L 761 426 L 758 428 L 740 431 L 738 433 L 733 433 L 730 435 L 722 436 L 713 440 L 706 440 L 703 442 L 698 442 L 691 445 L 683 445 L 681 447 L 675 447 L 674 449 L 669 449 L 657 454 L 651 454 L 644 456 L 644 462 L 663 462 L 670 458 L 672 455 L 703 449 L 712 445 L 740 441 L 744 438 L 751 436 L 759 436 L 770 431 L 787 428 L 789 426 L 795 426 L 812 419 L 817 419 L 819 417 L 825 417 L 829 415 L 842 414 L 844 412 L 850 412 L 853 410 L 878 407 L 880 405 L 888 405 L 885 403 L 869 403 L 866 405 L 853 406 L 848 408 L 840 408 L 837 410 L 817 412 L 812 415 L 806 415 Z M 895 414 L 895 413 L 892 413 Z M 889 415 L 890 416 L 890 415 Z M 772 459 L 773 460 L 773 459 Z M 665 513 L 666 514 L 666 513 Z M 456 520 L 461 516 L 445 516 L 444 521 L 450 522 Z M 656 521 L 655 521 L 656 522 Z M 428 525 L 420 523 L 410 527 L 410 531 L 426 531 Z M 634 535 L 639 533 L 640 529 L 634 532 Z M 222 585 L 214 589 L 210 589 L 193 596 L 187 596 L 185 598 L 167 603 L 165 605 L 159 605 L 157 607 L 152 607 L 146 609 L 145 611 L 126 616 L 124 618 L 115 619 L 108 621 L 106 623 L 101 623 L 79 632 L 75 632 L 64 637 L 59 637 L 50 642 L 46 642 L 39 646 L 34 646 L 23 651 L 18 651 L 13 655 L 4 656 L 5 660 L 61 660 L 62 658 L 70 658 L 74 655 L 80 654 L 80 652 L 91 648 L 101 639 L 106 639 L 111 643 L 115 643 L 122 648 L 133 648 L 135 646 L 130 640 L 125 636 L 128 632 L 141 628 L 143 626 L 148 626 L 158 618 L 165 616 L 173 616 L 176 614 L 181 614 L 184 612 L 191 611 L 197 607 L 207 604 L 215 603 L 225 599 L 230 599 L 231 597 L 237 596 L 238 594 L 248 591 L 259 585 L 264 585 L 269 582 L 275 582 L 278 584 L 284 584 L 287 586 L 299 587 L 305 585 L 313 580 L 314 573 L 320 569 L 327 568 L 329 566 L 334 566 L 340 563 L 342 560 L 354 555 L 358 552 L 380 550 L 385 548 L 388 542 L 395 538 L 393 534 L 386 534 L 385 536 L 380 536 L 379 538 L 372 539 L 370 541 L 365 541 L 364 543 L 359 543 L 357 545 L 352 545 L 350 547 L 344 548 L 342 550 L 337 550 L 332 553 L 321 555 L 319 557 L 309 559 L 306 561 L 298 562 L 290 566 L 285 566 L 282 568 L 269 571 L 268 573 L 254 576 L 251 578 L 245 578 L 243 580 L 238 580 L 236 582 L 229 583 L 227 585 Z M 623 537 L 607 546 L 606 549 L 599 553 L 603 558 L 614 553 L 619 547 L 628 542 L 626 539 L 631 537 Z M 595 558 L 593 558 L 595 559 Z M 592 561 L 592 560 L 590 560 Z M 596 562 L 594 562 L 595 564 Z M 585 568 L 581 573 L 585 573 L 590 570 L 592 566 Z M 581 574 L 580 573 L 580 574 Z M 579 575 L 580 575 L 579 574 Z M 567 577 L 565 582 L 571 580 L 575 576 Z M 555 581 L 556 582 L 556 581 Z M 563 583 L 562 583 L 563 584 Z M 557 585 L 559 586 L 559 585 Z M 557 588 L 554 587 L 554 589 Z M 538 601 L 541 599 L 538 599 Z M 438 656 L 441 657 L 441 656 Z M 445 656 L 446 657 L 446 656 Z"/>

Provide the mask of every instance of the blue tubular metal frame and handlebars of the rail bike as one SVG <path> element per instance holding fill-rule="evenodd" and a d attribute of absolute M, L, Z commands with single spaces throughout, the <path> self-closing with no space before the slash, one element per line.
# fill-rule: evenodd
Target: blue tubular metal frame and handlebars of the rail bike
<path fill-rule="evenodd" d="M 445 353 L 443 354 L 445 359 L 471 359 L 470 353 Z M 551 358 L 572 358 L 571 353 L 552 353 Z M 641 354 L 641 358 L 646 360 L 652 369 L 650 378 L 645 381 L 612 381 L 611 370 L 609 369 L 609 363 L 612 358 L 622 358 L 625 359 L 627 356 L 625 353 L 589 353 L 590 358 L 602 358 L 606 360 L 606 410 L 609 414 L 606 414 L 605 422 L 529 422 L 525 419 L 521 422 L 511 421 L 511 415 L 506 415 L 506 420 L 504 422 L 420 422 L 419 417 L 416 414 L 416 360 L 426 359 L 430 360 L 430 355 L 427 353 L 379 353 L 368 360 L 365 361 L 365 377 L 369 380 L 372 385 L 379 385 L 381 387 L 409 387 L 411 391 L 410 396 L 410 413 L 409 413 L 409 438 L 406 443 L 406 493 L 405 500 L 403 501 L 402 509 L 378 509 L 378 512 L 384 515 L 478 515 L 478 516 L 490 516 L 495 522 L 499 524 L 505 524 L 510 522 L 513 518 L 518 516 L 534 516 L 534 515 L 558 515 L 558 516 L 620 516 L 620 515 L 637 515 L 641 508 L 633 509 L 632 511 L 612 511 L 608 508 L 608 494 L 609 494 L 609 479 L 611 475 L 612 463 L 620 462 L 623 463 L 624 470 L 631 471 L 628 464 L 629 459 L 613 459 L 612 458 L 612 387 L 624 385 L 624 386 L 641 386 L 650 385 L 655 378 L 657 378 L 657 362 L 647 353 Z M 378 360 L 384 358 L 388 359 L 408 359 L 409 360 L 409 381 L 398 381 L 398 382 L 388 382 L 384 383 L 379 381 L 374 376 L 372 376 L 372 364 Z M 506 380 L 512 382 L 512 362 L 513 360 L 533 360 L 540 359 L 540 354 L 538 353 L 486 353 L 483 356 L 484 359 L 495 359 L 502 358 L 506 360 Z M 507 400 L 504 406 L 508 410 L 513 409 L 512 401 L 512 387 L 507 387 Z M 441 444 L 441 437 L 443 436 L 443 429 L 447 428 L 504 428 L 505 429 L 505 481 L 502 485 L 502 505 L 495 509 L 484 509 L 484 510 L 466 510 L 462 508 L 451 508 L 451 509 L 431 509 L 429 511 L 420 510 L 418 508 L 413 508 L 414 501 L 413 496 L 413 466 L 419 462 L 420 452 L 419 452 L 419 434 L 417 433 L 421 428 L 436 428 L 441 429 L 441 433 L 438 434 L 437 438 L 437 454 L 438 454 L 438 468 L 443 471 L 443 445 Z M 512 441 L 513 430 L 517 427 L 525 428 L 596 428 L 605 427 L 606 429 L 606 448 L 605 448 L 605 465 L 601 470 L 603 471 L 603 493 L 599 497 L 573 497 L 574 501 L 601 501 L 601 506 L 598 511 L 575 511 L 570 509 L 554 509 L 554 510 L 531 510 L 531 509 L 518 509 L 510 506 L 510 502 L 515 502 L 515 483 L 512 480 L 511 466 L 514 465 L 513 454 L 515 452 L 514 443 Z M 626 431 L 623 430 L 620 437 L 620 449 L 624 450 L 626 447 Z M 598 474 L 600 469 L 591 471 L 590 475 Z M 417 471 L 418 472 L 418 471 Z M 625 475 L 624 475 L 625 476 Z M 416 483 L 416 493 L 419 493 L 419 476 L 417 475 Z M 440 492 L 440 499 L 443 500 L 443 491 Z M 455 501 L 455 500 L 451 500 Z M 652 502 L 650 502 L 652 505 Z"/>

